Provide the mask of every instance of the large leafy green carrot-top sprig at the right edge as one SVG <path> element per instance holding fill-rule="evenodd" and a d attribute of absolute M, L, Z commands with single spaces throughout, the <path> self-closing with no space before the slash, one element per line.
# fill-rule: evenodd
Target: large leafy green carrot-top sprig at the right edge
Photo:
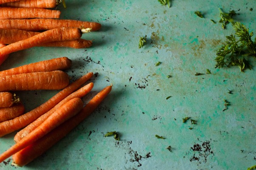
<path fill-rule="evenodd" d="M 235 35 L 231 34 L 226 36 L 226 41 L 219 48 L 216 53 L 215 68 L 222 68 L 225 66 L 239 66 L 240 71 L 244 72 L 245 69 L 251 69 L 251 65 L 247 57 L 256 58 L 256 37 L 255 41 L 251 40 L 253 32 L 249 33 L 248 28 L 239 22 L 232 22 Z M 239 40 L 236 40 L 236 36 Z"/>

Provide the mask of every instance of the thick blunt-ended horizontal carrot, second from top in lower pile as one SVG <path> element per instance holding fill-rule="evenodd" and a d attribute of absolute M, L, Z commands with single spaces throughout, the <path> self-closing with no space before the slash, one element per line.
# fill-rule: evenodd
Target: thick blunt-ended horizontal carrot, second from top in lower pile
<path fill-rule="evenodd" d="M 60 90 L 68 83 L 63 71 L 24 73 L 0 77 L 0 91 Z"/>

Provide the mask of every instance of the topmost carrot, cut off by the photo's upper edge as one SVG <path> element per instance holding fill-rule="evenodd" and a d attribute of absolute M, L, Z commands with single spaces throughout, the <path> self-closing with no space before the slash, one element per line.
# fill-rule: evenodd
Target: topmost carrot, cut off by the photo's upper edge
<path fill-rule="evenodd" d="M 22 7 L 22 8 L 55 8 L 56 0 L 19 0 L 10 3 L 4 3 L 2 6 Z"/>

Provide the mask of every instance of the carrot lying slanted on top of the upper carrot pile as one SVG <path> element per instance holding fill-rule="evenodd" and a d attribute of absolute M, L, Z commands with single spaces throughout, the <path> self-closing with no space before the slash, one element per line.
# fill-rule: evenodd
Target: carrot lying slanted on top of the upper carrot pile
<path fill-rule="evenodd" d="M 26 40 L 14 42 L 0 48 L 0 64 L 7 59 L 6 55 L 12 52 L 31 48 L 45 42 L 75 40 L 81 36 L 82 32 L 79 28 L 55 28 L 42 32 Z"/>

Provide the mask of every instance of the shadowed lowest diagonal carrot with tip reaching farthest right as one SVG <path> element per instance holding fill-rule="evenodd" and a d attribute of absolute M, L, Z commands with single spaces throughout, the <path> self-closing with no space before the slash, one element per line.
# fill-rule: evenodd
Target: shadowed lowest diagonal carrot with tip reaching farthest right
<path fill-rule="evenodd" d="M 65 137 L 72 129 L 74 129 L 80 122 L 82 122 L 87 116 L 89 116 L 102 100 L 110 93 L 111 86 L 107 86 L 100 93 L 94 96 L 90 102 L 78 113 L 76 116 L 64 122 L 62 125 L 56 127 L 46 136 L 43 136 L 40 140 L 28 145 L 23 150 L 15 153 L 12 156 L 14 165 L 24 166 L 33 161 L 38 156 L 42 155 L 46 150 L 56 144 L 60 139 Z"/>

